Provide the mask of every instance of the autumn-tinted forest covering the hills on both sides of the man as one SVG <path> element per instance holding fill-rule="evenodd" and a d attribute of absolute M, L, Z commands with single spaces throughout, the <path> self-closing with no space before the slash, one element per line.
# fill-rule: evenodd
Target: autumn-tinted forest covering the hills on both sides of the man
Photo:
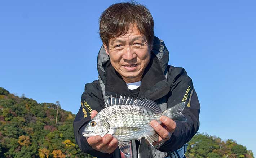
<path fill-rule="evenodd" d="M 75 143 L 75 115 L 56 103 L 37 103 L 0 87 L 0 158 L 93 158 Z M 254 158 L 235 140 L 197 133 L 187 158 Z"/>

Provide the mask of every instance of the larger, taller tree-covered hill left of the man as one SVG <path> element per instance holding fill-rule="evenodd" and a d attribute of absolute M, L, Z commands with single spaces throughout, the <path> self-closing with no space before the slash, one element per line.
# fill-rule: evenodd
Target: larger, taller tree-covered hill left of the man
<path fill-rule="evenodd" d="M 1 158 L 91 158 L 75 143 L 75 115 L 57 104 L 37 103 L 0 87 Z"/>

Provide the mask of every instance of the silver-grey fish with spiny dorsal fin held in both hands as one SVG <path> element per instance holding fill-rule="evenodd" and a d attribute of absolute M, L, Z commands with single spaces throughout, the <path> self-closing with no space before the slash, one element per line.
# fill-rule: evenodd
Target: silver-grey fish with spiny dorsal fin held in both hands
<path fill-rule="evenodd" d="M 158 141 L 159 135 L 150 125 L 152 120 L 161 124 L 160 117 L 167 116 L 176 121 L 187 121 L 182 114 L 185 108 L 184 102 L 162 112 L 153 100 L 116 95 L 108 98 L 105 106 L 106 108 L 98 112 L 87 124 L 82 135 L 88 138 L 111 134 L 118 140 L 119 149 L 126 157 L 131 157 L 131 140 L 145 138 L 151 146 Z"/>

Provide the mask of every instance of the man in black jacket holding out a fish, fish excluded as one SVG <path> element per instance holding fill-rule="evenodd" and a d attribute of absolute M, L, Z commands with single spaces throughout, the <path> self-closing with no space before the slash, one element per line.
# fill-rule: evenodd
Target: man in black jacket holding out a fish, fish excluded
<path fill-rule="evenodd" d="M 168 66 L 168 50 L 154 36 L 149 10 L 134 2 L 111 5 L 100 17 L 100 37 L 103 46 L 97 62 L 99 80 L 85 85 L 73 124 L 80 149 L 96 157 L 121 157 L 118 141 L 112 135 L 85 139 L 82 132 L 97 112 L 105 108 L 107 97 L 130 95 L 154 100 L 162 110 L 185 102 L 182 113 L 187 118 L 187 122 L 180 122 L 162 116 L 161 125 L 151 121 L 159 140 L 154 147 L 143 139 L 132 141 L 133 157 L 185 158 L 184 144 L 199 128 L 200 104 L 186 71 Z"/>

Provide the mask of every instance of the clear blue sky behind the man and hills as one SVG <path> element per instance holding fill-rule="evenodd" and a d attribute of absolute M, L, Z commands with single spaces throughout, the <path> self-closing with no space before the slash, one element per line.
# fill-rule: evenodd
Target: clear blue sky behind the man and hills
<path fill-rule="evenodd" d="M 0 87 L 76 114 L 97 80 L 98 18 L 122 1 L 1 1 Z M 200 104 L 199 132 L 256 154 L 256 1 L 153 1 L 147 6 L 169 64 L 184 67 Z"/>

